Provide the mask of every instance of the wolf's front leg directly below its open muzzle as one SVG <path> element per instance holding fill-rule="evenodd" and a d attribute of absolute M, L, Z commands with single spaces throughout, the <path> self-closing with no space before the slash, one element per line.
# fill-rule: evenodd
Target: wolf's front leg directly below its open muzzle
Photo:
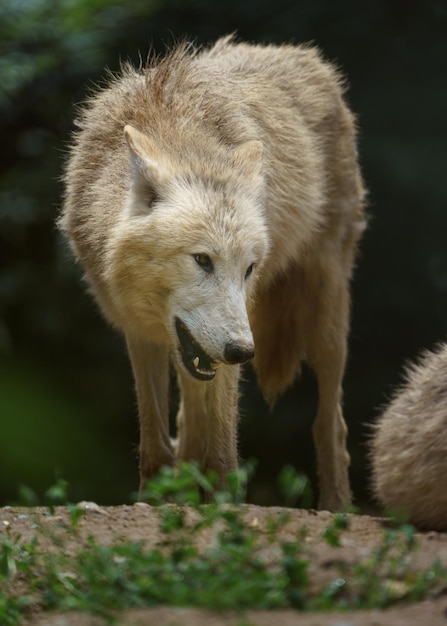
<path fill-rule="evenodd" d="M 218 488 L 237 469 L 238 381 L 237 365 L 222 365 L 211 382 L 179 375 L 178 460 L 198 461 L 203 471 L 214 470 Z"/>

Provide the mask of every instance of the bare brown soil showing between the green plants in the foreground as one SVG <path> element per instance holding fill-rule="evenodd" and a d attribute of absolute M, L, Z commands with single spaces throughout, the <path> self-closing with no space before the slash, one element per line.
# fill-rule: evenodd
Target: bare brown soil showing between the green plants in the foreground
<path fill-rule="evenodd" d="M 145 548 L 156 546 L 162 538 L 159 533 L 159 514 L 156 508 L 137 503 L 133 506 L 99 507 L 83 503 L 86 514 L 79 523 L 79 533 L 67 532 L 64 550 L 74 553 L 89 535 L 103 545 L 121 541 L 142 541 Z M 247 523 L 263 532 L 265 522 L 284 509 L 243 505 L 241 510 Z M 367 558 L 383 537 L 386 520 L 366 515 L 349 516 L 349 528 L 342 534 L 341 547 L 331 547 L 322 540 L 322 534 L 332 516 L 325 511 L 290 510 L 291 518 L 281 531 L 281 538 L 292 540 L 297 529 L 305 527 L 306 550 L 310 559 L 310 578 L 316 589 L 337 576 L 337 563 L 358 562 Z M 20 535 L 29 541 L 36 534 L 36 525 L 49 532 L 38 532 L 42 549 L 54 550 L 51 529 L 68 526 L 65 507 L 57 507 L 53 515 L 47 509 L 0 509 L 0 534 L 8 529 L 11 537 Z M 47 537 L 47 538 L 46 538 Z M 427 568 L 439 558 L 447 564 L 447 534 L 418 533 L 418 549 L 414 553 L 413 567 Z M 199 547 L 206 548 L 212 537 L 203 533 L 197 537 Z M 48 542 L 47 545 L 45 542 Z M 200 545 L 200 543 L 202 545 Z M 266 548 L 269 549 L 268 546 Z M 194 608 L 159 607 L 133 609 L 120 617 L 124 626 L 447 626 L 447 585 L 438 588 L 425 600 L 394 606 L 385 610 L 349 611 L 337 613 L 303 613 L 294 610 L 247 611 L 241 617 L 233 612 L 219 613 Z M 34 613 L 27 616 L 25 626 L 102 626 L 103 622 L 80 613 Z"/>

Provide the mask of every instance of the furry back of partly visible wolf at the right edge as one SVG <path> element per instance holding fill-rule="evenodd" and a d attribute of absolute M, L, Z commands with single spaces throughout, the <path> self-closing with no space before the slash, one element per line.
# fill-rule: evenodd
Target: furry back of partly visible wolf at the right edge
<path fill-rule="evenodd" d="M 373 487 L 387 509 L 447 530 L 447 344 L 407 369 L 374 428 Z"/>

